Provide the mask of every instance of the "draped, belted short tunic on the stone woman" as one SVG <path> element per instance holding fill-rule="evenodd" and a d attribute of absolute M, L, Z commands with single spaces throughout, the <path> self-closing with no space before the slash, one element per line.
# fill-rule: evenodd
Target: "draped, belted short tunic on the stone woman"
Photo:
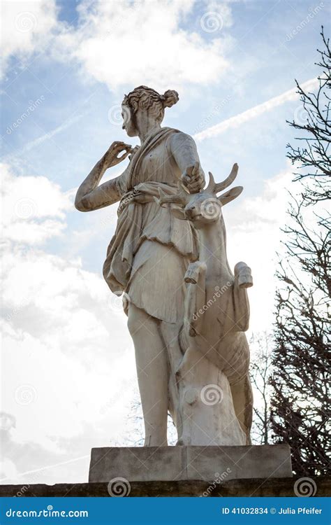
<path fill-rule="evenodd" d="M 154 201 L 159 188 L 167 195 L 178 191 L 181 172 L 169 146 L 173 133 L 178 131 L 162 128 L 147 137 L 119 178 L 117 228 L 103 265 L 113 293 L 125 291 L 137 307 L 169 323 L 183 316 L 184 274 L 198 257 L 191 223 L 172 216 L 173 204 L 163 208 Z M 136 193 L 148 202 L 135 202 Z"/>

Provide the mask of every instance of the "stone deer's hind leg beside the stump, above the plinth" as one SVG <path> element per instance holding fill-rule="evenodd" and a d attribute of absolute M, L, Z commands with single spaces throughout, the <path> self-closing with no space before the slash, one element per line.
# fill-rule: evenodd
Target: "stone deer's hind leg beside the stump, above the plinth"
<path fill-rule="evenodd" d="M 239 383 L 231 385 L 235 415 L 247 436 L 246 444 L 251 444 L 251 423 L 253 420 L 253 391 L 247 374 Z"/>

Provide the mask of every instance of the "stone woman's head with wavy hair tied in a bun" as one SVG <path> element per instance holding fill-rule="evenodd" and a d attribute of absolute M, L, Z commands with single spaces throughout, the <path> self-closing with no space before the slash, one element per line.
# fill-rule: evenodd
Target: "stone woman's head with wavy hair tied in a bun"
<path fill-rule="evenodd" d="M 148 118 L 151 123 L 161 124 L 164 109 L 170 108 L 179 97 L 177 91 L 168 90 L 159 94 L 152 87 L 140 85 L 124 96 L 122 102 L 123 129 L 129 137 L 138 135 L 140 118 Z"/>

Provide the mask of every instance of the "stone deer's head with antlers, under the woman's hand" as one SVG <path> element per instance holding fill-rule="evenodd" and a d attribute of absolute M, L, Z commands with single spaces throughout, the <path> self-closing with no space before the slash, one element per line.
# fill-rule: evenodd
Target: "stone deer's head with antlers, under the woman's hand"
<path fill-rule="evenodd" d="M 165 204 L 177 204 L 178 207 L 173 207 L 171 213 L 186 221 L 191 221 L 194 227 L 199 230 L 204 225 L 214 223 L 219 220 L 221 216 L 221 207 L 224 204 L 238 197 L 242 193 L 242 186 L 235 186 L 231 190 L 222 193 L 217 197 L 217 193 L 228 188 L 233 183 L 238 173 L 238 165 L 234 164 L 230 175 L 223 182 L 216 183 L 211 172 L 209 172 L 209 184 L 207 188 L 200 193 L 187 193 L 182 185 L 179 183 L 179 190 L 174 195 L 165 195 L 159 189 L 160 198 L 156 200 L 163 206 Z"/>

